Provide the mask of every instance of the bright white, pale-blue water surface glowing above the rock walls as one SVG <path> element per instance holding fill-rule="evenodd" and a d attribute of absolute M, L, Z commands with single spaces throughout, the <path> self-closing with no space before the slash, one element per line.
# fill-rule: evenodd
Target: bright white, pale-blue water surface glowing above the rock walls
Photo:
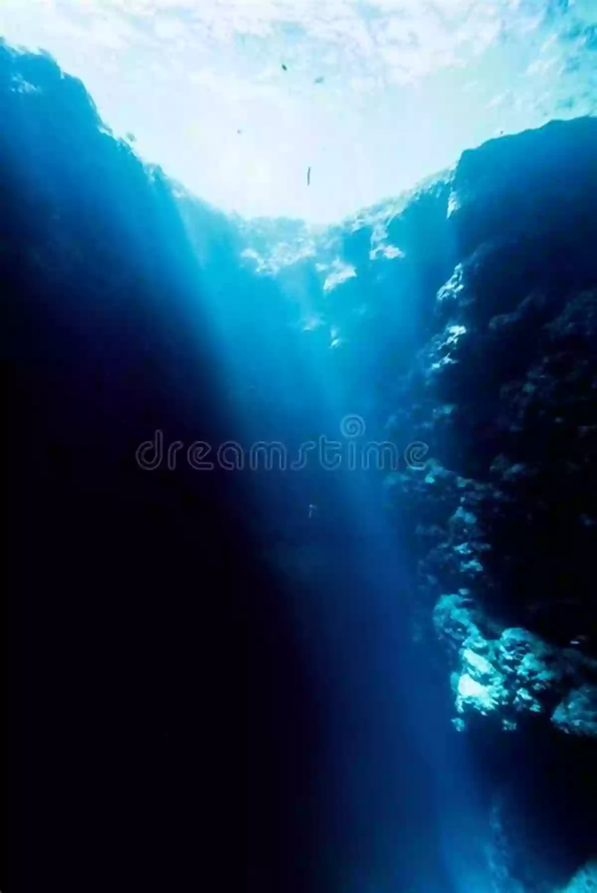
<path fill-rule="evenodd" d="M 0 0 L 0 34 L 81 78 L 146 160 L 223 210 L 313 222 L 594 113 L 596 19 L 594 0 Z"/>

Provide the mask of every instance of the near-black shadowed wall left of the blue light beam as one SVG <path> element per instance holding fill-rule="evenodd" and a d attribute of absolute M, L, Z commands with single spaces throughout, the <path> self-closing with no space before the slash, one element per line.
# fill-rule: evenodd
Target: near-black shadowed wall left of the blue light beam
<path fill-rule="evenodd" d="M 325 889 L 315 708 L 244 484 L 135 458 L 235 430 L 170 189 L 45 56 L 0 47 L 0 113 L 7 889 Z"/>

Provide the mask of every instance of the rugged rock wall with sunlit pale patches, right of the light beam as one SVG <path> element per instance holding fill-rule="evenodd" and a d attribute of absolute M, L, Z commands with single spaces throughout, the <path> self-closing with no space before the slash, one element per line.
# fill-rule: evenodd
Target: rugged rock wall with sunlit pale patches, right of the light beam
<path fill-rule="evenodd" d="M 390 502 L 433 524 L 413 537 L 419 599 L 457 726 L 547 714 L 594 734 L 597 121 L 464 154 L 448 205 L 457 263 L 401 416 L 434 461 Z"/>

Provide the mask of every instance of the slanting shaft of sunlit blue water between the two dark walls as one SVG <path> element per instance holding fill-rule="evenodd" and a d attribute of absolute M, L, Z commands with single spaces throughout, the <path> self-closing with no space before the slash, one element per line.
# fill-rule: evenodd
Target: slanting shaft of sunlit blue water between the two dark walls
<path fill-rule="evenodd" d="M 270 471 L 245 473 L 316 691 L 317 846 L 333 889 L 488 890 L 487 817 L 467 743 L 450 722 L 449 680 L 412 640 L 413 581 L 400 546 L 412 519 L 388 519 L 383 474 L 363 469 L 361 453 L 351 463 L 357 438 L 343 433 L 352 420 L 361 439 L 386 439 L 383 406 L 370 400 L 383 358 L 346 369 L 324 338 L 290 324 L 283 290 L 267 300 L 267 282 L 244 280 L 214 306 L 224 272 L 216 265 L 204 285 L 235 395 L 235 439 L 245 456 L 261 440 L 287 451 L 286 471 L 272 460 Z M 415 302 L 402 320 L 398 312 L 399 330 L 414 330 L 416 313 Z M 321 436 L 342 445 L 329 454 L 338 467 L 313 451 L 293 469 L 300 445 Z"/>

